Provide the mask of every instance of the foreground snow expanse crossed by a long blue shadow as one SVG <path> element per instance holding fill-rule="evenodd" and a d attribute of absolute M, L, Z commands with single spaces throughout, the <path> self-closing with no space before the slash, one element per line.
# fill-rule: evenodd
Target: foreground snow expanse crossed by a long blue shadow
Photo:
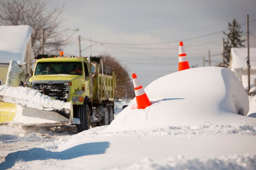
<path fill-rule="evenodd" d="M 139 136 L 132 132 L 102 133 L 106 127 L 93 128 L 55 141 L 49 139 L 40 147 L 14 152 L 6 157 L 2 167 L 17 170 L 33 167 L 40 170 L 153 170 L 156 165 L 163 170 L 186 167 L 225 169 L 230 165 L 231 169 L 243 166 L 249 170 L 255 168 L 256 148 L 251 147 L 251 142 L 256 141 L 255 129 L 241 127 L 247 135 L 243 135 L 242 131 L 229 135 L 205 135 L 196 133 L 200 129 L 194 129 L 194 136 L 187 136 L 183 130 L 183 136 L 159 132 L 154 136 L 145 136 L 146 132 Z M 207 131 L 207 128 L 204 130 Z M 226 130 L 227 127 L 224 127 L 223 131 L 228 132 Z"/>

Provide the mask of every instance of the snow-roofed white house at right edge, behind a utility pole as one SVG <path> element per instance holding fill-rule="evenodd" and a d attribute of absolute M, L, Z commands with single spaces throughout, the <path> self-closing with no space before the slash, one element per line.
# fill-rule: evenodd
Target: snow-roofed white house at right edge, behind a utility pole
<path fill-rule="evenodd" d="M 254 87 L 254 79 L 256 79 L 256 48 L 250 48 L 250 87 Z M 233 71 L 244 88 L 248 89 L 248 67 L 247 67 L 247 48 L 231 48 L 229 69 Z"/>

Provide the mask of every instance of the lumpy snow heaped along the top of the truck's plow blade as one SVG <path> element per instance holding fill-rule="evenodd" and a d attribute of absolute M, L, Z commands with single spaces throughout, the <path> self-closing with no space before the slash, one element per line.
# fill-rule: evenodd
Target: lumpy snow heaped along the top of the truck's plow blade
<path fill-rule="evenodd" d="M 2 85 L 0 86 L 0 96 L 4 102 L 44 111 L 71 109 L 70 102 L 52 99 L 50 96 L 43 95 L 40 91 L 28 87 Z"/>

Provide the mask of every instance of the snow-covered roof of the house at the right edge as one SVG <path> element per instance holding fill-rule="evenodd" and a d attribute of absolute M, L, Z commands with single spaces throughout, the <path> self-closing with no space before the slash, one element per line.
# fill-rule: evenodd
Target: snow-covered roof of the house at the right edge
<path fill-rule="evenodd" d="M 230 69 L 235 71 L 236 69 L 247 70 L 247 48 L 231 48 L 230 52 L 231 61 Z M 250 48 L 250 64 L 251 69 L 256 70 L 256 48 Z"/>

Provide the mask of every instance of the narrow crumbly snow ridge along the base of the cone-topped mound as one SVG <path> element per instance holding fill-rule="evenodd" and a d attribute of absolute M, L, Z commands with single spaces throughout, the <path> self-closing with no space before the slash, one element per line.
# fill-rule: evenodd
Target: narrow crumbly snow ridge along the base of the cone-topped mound
<path fill-rule="evenodd" d="M 47 150 L 55 150 L 66 144 L 74 143 L 74 141 L 86 140 L 104 140 L 106 138 L 132 138 L 132 137 L 149 137 L 149 138 L 169 138 L 184 137 L 193 139 L 199 136 L 224 136 L 224 135 L 247 135 L 256 136 L 256 123 L 236 123 L 229 125 L 214 125 L 205 123 L 204 125 L 194 126 L 165 126 L 150 130 L 132 130 L 132 131 L 115 131 L 106 132 L 107 126 L 99 126 L 91 128 L 87 131 L 77 133 L 65 138 L 60 138 L 52 143 L 47 143 L 44 148 Z"/>

